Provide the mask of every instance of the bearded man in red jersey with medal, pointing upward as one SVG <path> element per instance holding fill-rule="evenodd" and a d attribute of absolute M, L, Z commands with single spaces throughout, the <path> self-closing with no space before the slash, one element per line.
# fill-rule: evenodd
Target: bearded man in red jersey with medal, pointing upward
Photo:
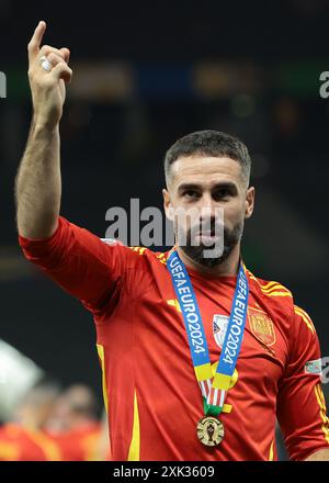
<path fill-rule="evenodd" d="M 328 460 L 314 325 L 287 289 L 240 262 L 254 203 L 247 148 L 200 132 L 169 149 L 174 249 L 101 242 L 59 216 L 58 125 L 72 72 L 67 48 L 39 48 L 44 32 L 41 22 L 29 45 L 34 115 L 16 179 L 20 243 L 93 314 L 113 460 L 273 460 L 276 416 L 291 459 Z M 175 209 L 194 209 L 206 228 L 195 231 L 193 216 L 180 225 Z"/>

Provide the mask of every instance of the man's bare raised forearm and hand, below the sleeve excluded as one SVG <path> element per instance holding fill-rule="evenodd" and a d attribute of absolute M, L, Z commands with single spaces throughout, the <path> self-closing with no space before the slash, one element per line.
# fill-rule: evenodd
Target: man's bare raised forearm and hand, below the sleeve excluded
<path fill-rule="evenodd" d="M 65 82 L 72 76 L 68 48 L 41 47 L 45 30 L 46 23 L 39 22 L 27 47 L 33 119 L 15 182 L 18 229 L 26 238 L 47 238 L 57 228 L 61 194 L 59 121 Z"/>

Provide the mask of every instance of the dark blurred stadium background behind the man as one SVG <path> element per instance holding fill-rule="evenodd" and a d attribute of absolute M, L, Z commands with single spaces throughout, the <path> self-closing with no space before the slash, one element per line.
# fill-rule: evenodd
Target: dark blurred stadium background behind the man
<path fill-rule="evenodd" d="M 0 338 L 64 387 L 87 384 L 101 402 L 91 316 L 38 274 L 16 242 L 13 182 L 31 120 L 26 44 L 38 20 L 47 22 L 45 43 L 71 49 L 75 72 L 61 122 L 63 215 L 103 237 L 109 207 L 128 207 L 131 198 L 161 206 L 162 158 L 178 137 L 201 128 L 238 135 L 257 187 L 245 259 L 295 293 L 329 356 L 325 0 L 0 0 L 8 82 L 0 100 Z M 0 397 L 5 383 L 2 369 Z"/>

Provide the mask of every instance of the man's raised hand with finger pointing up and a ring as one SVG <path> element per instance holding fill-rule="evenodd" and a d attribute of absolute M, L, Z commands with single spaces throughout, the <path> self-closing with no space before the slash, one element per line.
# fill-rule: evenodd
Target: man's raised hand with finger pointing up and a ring
<path fill-rule="evenodd" d="M 61 117 L 65 102 L 65 82 L 69 82 L 72 70 L 68 67 L 68 48 L 54 48 L 41 43 L 46 31 L 46 23 L 39 22 L 29 43 L 29 79 L 33 100 L 34 124 L 55 127 Z M 46 57 L 53 68 L 47 71 L 42 67 L 42 57 Z"/>

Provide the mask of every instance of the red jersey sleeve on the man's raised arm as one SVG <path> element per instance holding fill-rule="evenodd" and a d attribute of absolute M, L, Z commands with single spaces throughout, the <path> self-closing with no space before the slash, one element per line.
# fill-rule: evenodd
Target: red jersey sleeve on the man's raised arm
<path fill-rule="evenodd" d="M 61 216 L 52 237 L 20 236 L 19 242 L 27 260 L 81 300 L 92 313 L 117 302 L 132 251 L 120 242 L 102 242 Z"/>

